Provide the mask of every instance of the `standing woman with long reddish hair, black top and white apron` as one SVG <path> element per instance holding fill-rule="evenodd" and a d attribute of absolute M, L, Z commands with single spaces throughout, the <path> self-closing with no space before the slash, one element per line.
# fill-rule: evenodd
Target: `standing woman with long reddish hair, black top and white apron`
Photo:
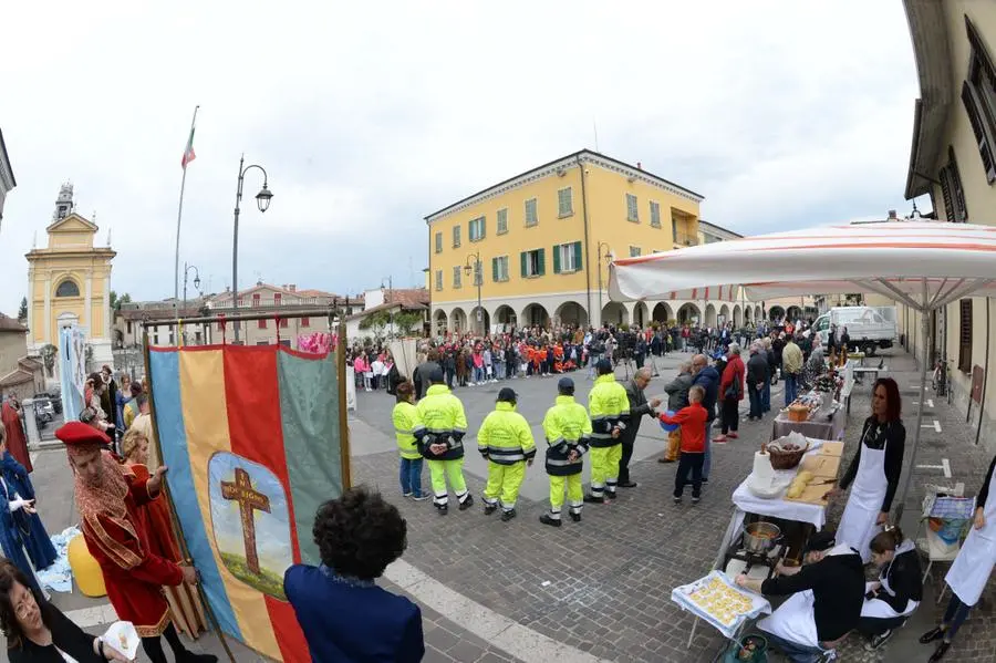
<path fill-rule="evenodd" d="M 868 563 L 869 545 L 889 520 L 892 498 L 903 470 L 906 429 L 900 419 L 899 385 L 891 377 L 875 382 L 872 416 L 864 422 L 858 454 L 828 496 L 839 495 L 853 481 L 851 497 L 837 528 L 837 540 L 851 546 Z"/>

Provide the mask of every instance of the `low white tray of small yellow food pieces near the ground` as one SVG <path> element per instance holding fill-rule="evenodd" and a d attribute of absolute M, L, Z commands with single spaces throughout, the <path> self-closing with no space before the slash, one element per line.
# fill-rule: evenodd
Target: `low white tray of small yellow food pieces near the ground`
<path fill-rule="evenodd" d="M 727 638 L 748 619 L 770 614 L 771 604 L 735 586 L 722 571 L 712 571 L 691 584 L 675 588 L 671 600 L 717 628 Z"/>

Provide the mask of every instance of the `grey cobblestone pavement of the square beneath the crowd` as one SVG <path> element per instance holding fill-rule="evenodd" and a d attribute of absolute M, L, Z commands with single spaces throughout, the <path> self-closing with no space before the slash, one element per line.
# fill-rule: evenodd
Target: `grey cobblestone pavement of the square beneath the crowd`
<path fill-rule="evenodd" d="M 658 360 L 662 377 L 652 383 L 649 394 L 662 391 L 663 380 L 671 377 L 681 359 L 684 358 Z M 903 392 L 909 454 L 915 426 L 913 401 L 919 400 L 914 382 L 919 384 L 919 373 L 901 351 L 886 355 L 886 364 L 889 374 L 898 380 Z M 585 402 L 590 383 L 583 374 L 574 374 L 574 379 L 579 401 Z M 531 424 L 539 424 L 556 394 L 556 379 L 517 380 L 511 384 L 519 392 L 520 411 Z M 473 434 L 492 408 L 500 386 L 504 384 L 457 391 L 467 410 L 469 448 L 475 442 Z M 869 384 L 855 387 L 845 436 L 845 463 L 853 455 L 861 424 L 869 414 Z M 732 514 L 729 496 L 749 474 L 754 452 L 770 437 L 771 415 L 761 423 L 743 422 L 738 441 L 714 447 L 710 483 L 697 506 L 671 503 L 674 466 L 655 462 L 653 455 L 663 449 L 664 435 L 653 422 L 645 421 L 637 442 L 637 447 L 642 447 L 637 456 L 644 459 L 631 473 L 640 483 L 639 488 L 620 489 L 620 498 L 614 504 L 587 506 L 581 524 L 567 521 L 560 529 L 552 529 L 538 522 L 547 505 L 536 490 L 520 499 L 519 518 L 509 524 L 485 517 L 477 505 L 466 512 L 453 509 L 448 516 L 439 517 L 429 503 L 401 498 L 396 455 L 386 450 L 392 434 L 393 398 L 384 393 L 359 396 L 360 419 L 375 428 L 367 429 L 366 437 L 381 438 L 381 442 L 354 458 L 354 480 L 377 485 L 402 508 L 409 522 L 405 553 L 408 562 L 500 614 L 595 656 L 625 662 L 691 662 L 710 661 L 720 650 L 722 636 L 702 625 L 691 649 L 686 646 L 693 619 L 672 603 L 671 590 L 709 570 Z M 779 385 L 772 403 L 778 405 L 781 398 Z M 935 431 L 934 419 L 940 422 L 941 433 Z M 916 464 L 940 466 L 942 458 L 947 458 L 953 477 L 945 479 L 940 468 L 915 470 L 904 518 L 904 530 L 910 536 L 916 530 L 923 483 L 953 486 L 955 481 L 964 481 L 966 493 L 975 494 L 992 457 L 975 447 L 974 429 L 968 429 L 963 416 L 948 411 L 946 403 L 934 400 L 924 423 L 931 427 L 923 428 Z M 354 447 L 371 442 L 357 425 Z M 468 456 L 476 454 L 468 452 Z M 484 487 L 483 473 L 483 465 L 468 457 L 465 474 L 475 496 Z M 539 464 L 529 474 L 537 481 L 546 481 Z M 427 486 L 427 476 L 424 483 Z M 843 504 L 840 500 L 831 505 L 831 524 L 839 519 Z M 943 572 L 935 573 L 938 587 Z M 945 661 L 994 661 L 996 610 L 992 584 Z M 840 660 L 925 661 L 931 650 L 916 644 L 916 638 L 943 612 L 943 604 L 935 608 L 932 599 L 933 590 L 928 587 L 923 607 L 882 651 L 865 652 L 863 642 L 852 635 L 840 649 Z"/>

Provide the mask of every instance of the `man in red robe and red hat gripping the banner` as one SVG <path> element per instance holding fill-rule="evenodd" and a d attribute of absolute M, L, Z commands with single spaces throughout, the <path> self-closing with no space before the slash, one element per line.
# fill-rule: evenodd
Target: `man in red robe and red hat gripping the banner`
<path fill-rule="evenodd" d="M 166 467 L 139 480 L 126 476 L 106 452 L 111 438 L 82 422 L 55 432 L 65 444 L 75 475 L 86 548 L 104 576 L 107 598 L 118 619 L 132 622 L 153 663 L 168 663 L 159 635 L 166 635 L 177 663 L 215 663 L 217 656 L 194 654 L 183 645 L 170 621 L 163 586 L 194 584 L 197 572 L 151 552 L 138 507 L 159 495 Z"/>

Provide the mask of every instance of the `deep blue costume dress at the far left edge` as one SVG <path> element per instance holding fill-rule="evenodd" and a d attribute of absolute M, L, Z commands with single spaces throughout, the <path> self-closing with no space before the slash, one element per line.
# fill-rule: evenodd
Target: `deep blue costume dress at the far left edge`
<path fill-rule="evenodd" d="M 4 557 L 34 582 L 33 569 L 50 567 L 56 558 L 55 548 L 38 514 L 28 514 L 24 509 L 11 512 L 8 507 L 19 497 L 34 499 L 34 487 L 28 478 L 28 470 L 14 460 L 10 452 L 0 457 L 0 476 L 3 478 L 0 481 L 0 498 L 3 499 L 0 504 L 0 545 Z"/>

